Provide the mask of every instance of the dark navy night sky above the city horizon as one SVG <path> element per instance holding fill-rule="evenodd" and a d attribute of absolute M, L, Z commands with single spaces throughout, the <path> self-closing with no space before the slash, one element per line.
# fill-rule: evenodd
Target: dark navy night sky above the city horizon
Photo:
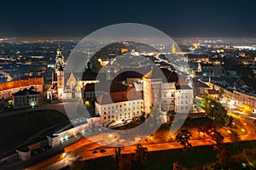
<path fill-rule="evenodd" d="M 256 37 L 255 0 L 1 1 L 0 36 L 85 37 L 117 23 L 172 37 Z"/>

